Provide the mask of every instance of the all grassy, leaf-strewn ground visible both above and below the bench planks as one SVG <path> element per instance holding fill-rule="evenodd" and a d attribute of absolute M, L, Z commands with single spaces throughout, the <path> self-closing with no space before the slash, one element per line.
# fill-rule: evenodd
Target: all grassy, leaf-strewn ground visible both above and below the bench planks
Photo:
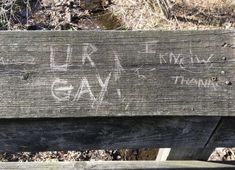
<path fill-rule="evenodd" d="M 100 1 L 97 5 L 97 1 Z M 182 30 L 235 28 L 234 0 L 173 0 L 167 18 L 156 0 L 2 0 L 0 30 Z M 158 149 L 2 153 L 0 161 L 155 160 Z M 218 148 L 209 160 L 235 160 Z"/>

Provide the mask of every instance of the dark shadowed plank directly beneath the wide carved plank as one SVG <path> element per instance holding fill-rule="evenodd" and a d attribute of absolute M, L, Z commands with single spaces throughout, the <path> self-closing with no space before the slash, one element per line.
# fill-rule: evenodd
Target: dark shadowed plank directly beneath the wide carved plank
<path fill-rule="evenodd" d="M 1 119 L 0 152 L 200 148 L 216 117 Z"/>

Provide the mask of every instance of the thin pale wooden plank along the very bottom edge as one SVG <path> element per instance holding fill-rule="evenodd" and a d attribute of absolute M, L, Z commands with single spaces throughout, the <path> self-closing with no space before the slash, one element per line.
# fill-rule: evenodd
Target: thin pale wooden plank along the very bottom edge
<path fill-rule="evenodd" d="M 227 165 L 203 161 L 93 161 L 93 162 L 9 162 L 0 163 L 0 170 L 92 170 L 92 169 L 158 169 L 158 170 L 195 170 L 195 169 L 234 169 Z"/>

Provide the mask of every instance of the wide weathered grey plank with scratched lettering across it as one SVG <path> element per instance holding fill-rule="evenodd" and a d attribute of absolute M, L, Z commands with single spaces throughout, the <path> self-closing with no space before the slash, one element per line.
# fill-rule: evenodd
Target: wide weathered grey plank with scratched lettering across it
<path fill-rule="evenodd" d="M 0 117 L 235 116 L 234 35 L 0 32 Z"/>

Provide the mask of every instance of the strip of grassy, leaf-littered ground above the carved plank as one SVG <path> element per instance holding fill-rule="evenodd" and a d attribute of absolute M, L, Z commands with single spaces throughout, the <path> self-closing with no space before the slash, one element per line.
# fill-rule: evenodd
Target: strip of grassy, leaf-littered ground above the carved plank
<path fill-rule="evenodd" d="M 235 27 L 234 0 L 2 0 L 0 29 L 228 29 Z M 163 0 L 162 0 L 163 1 Z M 4 3 L 5 2 L 5 3 Z M 97 5 L 98 4 L 98 5 Z M 161 9 L 167 8 L 167 19 Z"/>

